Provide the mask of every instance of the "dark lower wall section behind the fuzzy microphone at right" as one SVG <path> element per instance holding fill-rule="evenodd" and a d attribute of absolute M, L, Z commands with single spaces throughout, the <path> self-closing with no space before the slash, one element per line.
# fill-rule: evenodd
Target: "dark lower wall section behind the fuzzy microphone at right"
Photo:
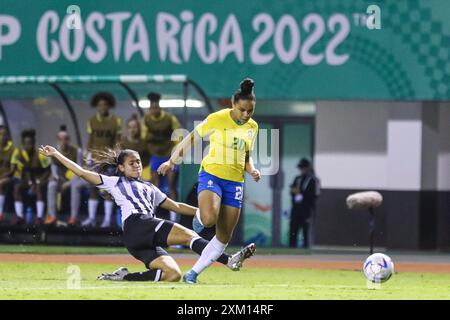
<path fill-rule="evenodd" d="M 368 246 L 369 213 L 346 207 L 345 199 L 364 190 L 324 189 L 317 203 L 315 243 Z M 450 192 L 383 191 L 375 209 L 375 246 L 390 249 L 450 250 Z"/>

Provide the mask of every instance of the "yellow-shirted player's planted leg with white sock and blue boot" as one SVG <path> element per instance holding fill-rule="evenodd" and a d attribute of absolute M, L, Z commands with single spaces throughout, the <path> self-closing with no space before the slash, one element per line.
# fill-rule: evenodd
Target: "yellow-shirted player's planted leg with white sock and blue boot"
<path fill-rule="evenodd" d="M 183 277 L 186 283 L 196 283 L 197 276 L 214 263 L 225 251 L 239 220 L 241 209 L 223 205 L 216 224 L 216 236 L 203 250 L 195 265 Z"/>

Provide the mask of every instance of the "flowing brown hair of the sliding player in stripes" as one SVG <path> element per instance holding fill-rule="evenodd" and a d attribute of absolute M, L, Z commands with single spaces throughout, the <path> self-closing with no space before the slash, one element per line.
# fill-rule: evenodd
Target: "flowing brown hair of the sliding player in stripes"
<path fill-rule="evenodd" d="M 114 149 L 92 150 L 89 169 L 107 176 L 122 174 L 119 165 L 123 165 L 125 159 L 132 154 L 139 155 L 137 151 L 131 149 L 120 149 L 118 145 Z"/>

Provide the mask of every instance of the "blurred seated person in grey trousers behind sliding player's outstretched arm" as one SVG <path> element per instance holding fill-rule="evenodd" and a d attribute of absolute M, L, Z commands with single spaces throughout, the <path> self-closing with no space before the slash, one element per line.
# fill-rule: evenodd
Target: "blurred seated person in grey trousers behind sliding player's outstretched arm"
<path fill-rule="evenodd" d="M 57 149 L 61 154 L 70 160 L 81 165 L 83 163 L 83 152 L 78 147 L 70 143 L 70 135 L 67 132 L 67 127 L 62 125 L 56 135 Z M 51 161 L 51 176 L 47 186 L 47 218 L 46 225 L 56 223 L 57 199 L 64 191 L 71 187 L 75 174 L 67 170 L 59 161 Z M 75 222 L 69 219 L 69 223 Z"/>

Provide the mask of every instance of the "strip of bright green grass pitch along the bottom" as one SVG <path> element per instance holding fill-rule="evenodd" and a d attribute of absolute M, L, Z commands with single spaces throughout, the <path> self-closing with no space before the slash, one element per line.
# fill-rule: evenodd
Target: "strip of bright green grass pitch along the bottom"
<path fill-rule="evenodd" d="M 450 299 L 450 274 L 399 273 L 380 290 L 362 271 L 213 267 L 201 284 L 97 281 L 117 265 L 80 264 L 81 289 L 67 289 L 68 264 L 0 263 L 0 299 Z M 132 266 L 130 271 L 143 271 Z M 186 271 L 186 268 L 183 268 Z M 69 281 L 70 282 L 70 281 Z"/>

